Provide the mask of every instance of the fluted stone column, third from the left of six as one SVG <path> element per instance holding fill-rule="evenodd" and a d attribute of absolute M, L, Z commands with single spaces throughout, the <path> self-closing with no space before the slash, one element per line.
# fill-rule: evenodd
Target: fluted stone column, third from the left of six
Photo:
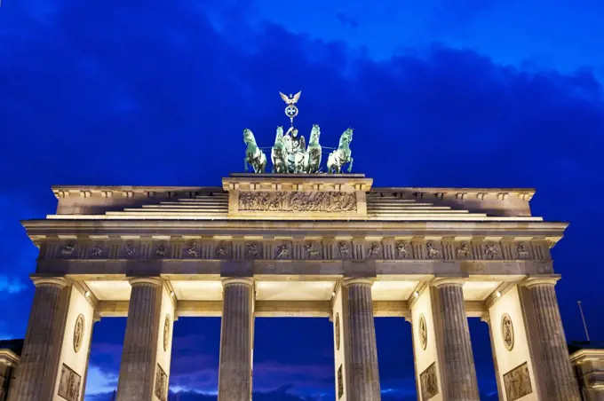
<path fill-rule="evenodd" d="M 219 401 L 250 401 L 254 281 L 222 281 Z"/>

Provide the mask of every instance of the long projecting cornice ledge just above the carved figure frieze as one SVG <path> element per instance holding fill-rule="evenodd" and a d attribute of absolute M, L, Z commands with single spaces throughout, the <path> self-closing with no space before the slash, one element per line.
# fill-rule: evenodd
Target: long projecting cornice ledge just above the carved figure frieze
<path fill-rule="evenodd" d="M 558 222 L 372 222 L 372 221 L 163 221 L 163 220 L 27 220 L 21 222 L 30 240 L 40 246 L 47 240 L 268 240 L 339 239 L 406 241 L 542 241 L 552 248 L 562 239 L 567 223 Z"/>

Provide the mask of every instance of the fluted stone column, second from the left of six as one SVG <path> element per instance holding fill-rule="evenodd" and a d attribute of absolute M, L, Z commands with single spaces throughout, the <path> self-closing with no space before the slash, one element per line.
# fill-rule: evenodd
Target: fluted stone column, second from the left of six
<path fill-rule="evenodd" d="M 155 278 L 131 279 L 130 283 L 117 400 L 147 401 L 153 397 L 155 384 L 162 287 Z"/>

